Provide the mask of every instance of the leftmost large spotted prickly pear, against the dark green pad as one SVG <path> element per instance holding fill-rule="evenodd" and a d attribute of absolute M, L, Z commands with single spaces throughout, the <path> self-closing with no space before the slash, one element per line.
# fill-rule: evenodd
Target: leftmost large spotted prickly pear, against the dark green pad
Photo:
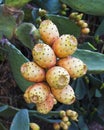
<path fill-rule="evenodd" d="M 41 82 L 45 79 L 45 70 L 35 62 L 27 62 L 21 66 L 22 76 L 32 82 Z"/>

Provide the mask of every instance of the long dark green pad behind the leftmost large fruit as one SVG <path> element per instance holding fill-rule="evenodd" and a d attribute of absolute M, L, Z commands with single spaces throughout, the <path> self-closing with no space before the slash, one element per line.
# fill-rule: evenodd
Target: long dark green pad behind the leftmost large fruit
<path fill-rule="evenodd" d="M 28 62 L 29 59 L 27 59 L 13 44 L 8 44 L 9 45 L 5 46 L 5 49 L 8 51 L 7 58 L 11 66 L 11 71 L 18 86 L 24 92 L 27 87 L 33 83 L 23 78 L 20 72 L 20 67 L 23 63 Z"/>

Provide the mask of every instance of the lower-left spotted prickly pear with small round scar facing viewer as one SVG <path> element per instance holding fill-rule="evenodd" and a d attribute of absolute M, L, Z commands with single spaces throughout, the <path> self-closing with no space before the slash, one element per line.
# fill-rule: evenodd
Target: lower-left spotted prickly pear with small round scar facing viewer
<path fill-rule="evenodd" d="M 47 84 L 41 82 L 31 85 L 24 93 L 24 99 L 27 103 L 42 103 L 50 93 L 50 88 Z"/>

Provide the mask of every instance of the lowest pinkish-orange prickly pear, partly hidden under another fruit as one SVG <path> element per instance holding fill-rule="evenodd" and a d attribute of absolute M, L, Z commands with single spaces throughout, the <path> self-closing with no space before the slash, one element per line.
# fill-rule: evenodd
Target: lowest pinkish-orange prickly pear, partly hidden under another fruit
<path fill-rule="evenodd" d="M 37 111 L 42 114 L 47 114 L 52 110 L 54 104 L 54 96 L 50 93 L 44 102 L 36 104 Z"/>

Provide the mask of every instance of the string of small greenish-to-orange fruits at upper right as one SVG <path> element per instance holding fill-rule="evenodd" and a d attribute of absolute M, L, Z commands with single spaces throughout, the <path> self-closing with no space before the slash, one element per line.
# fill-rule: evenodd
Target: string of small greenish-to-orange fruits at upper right
<path fill-rule="evenodd" d="M 78 12 L 73 12 L 70 14 L 69 18 L 75 21 L 75 23 L 81 27 L 81 33 L 82 34 L 88 34 L 90 32 L 90 29 L 88 27 L 88 24 L 82 20 L 83 14 L 79 14 Z"/>

